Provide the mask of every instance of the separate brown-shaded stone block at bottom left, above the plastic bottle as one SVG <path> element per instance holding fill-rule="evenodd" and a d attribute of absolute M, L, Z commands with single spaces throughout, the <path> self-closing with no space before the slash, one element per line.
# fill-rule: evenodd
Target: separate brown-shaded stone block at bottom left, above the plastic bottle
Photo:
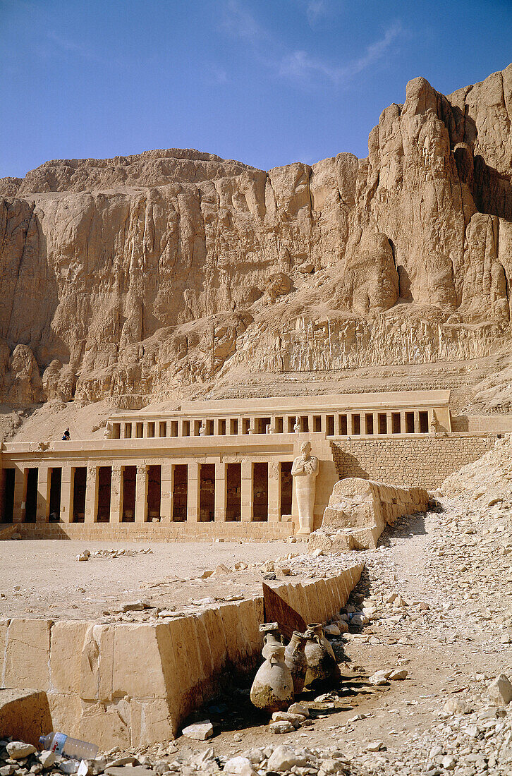
<path fill-rule="evenodd" d="M 45 692 L 0 690 L 0 738 L 9 736 L 37 746 L 39 737 L 52 729 Z"/>

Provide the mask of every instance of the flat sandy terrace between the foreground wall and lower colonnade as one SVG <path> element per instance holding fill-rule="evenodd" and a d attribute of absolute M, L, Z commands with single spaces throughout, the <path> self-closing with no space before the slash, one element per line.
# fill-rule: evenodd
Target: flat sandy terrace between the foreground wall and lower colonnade
<path fill-rule="evenodd" d="M 151 549 L 151 553 L 141 549 Z M 77 556 L 88 549 L 128 549 L 135 556 Z M 303 542 L 0 542 L 0 616 L 92 618 L 108 622 L 109 611 L 123 621 L 151 618 L 153 609 L 116 615 L 130 601 L 147 601 L 157 609 L 191 611 L 191 599 L 261 594 L 261 564 L 289 553 L 303 553 Z M 200 579 L 205 570 L 223 564 L 257 564 L 255 568 Z M 278 574 L 278 579 L 281 577 Z M 290 579 L 290 577 L 286 577 Z"/>

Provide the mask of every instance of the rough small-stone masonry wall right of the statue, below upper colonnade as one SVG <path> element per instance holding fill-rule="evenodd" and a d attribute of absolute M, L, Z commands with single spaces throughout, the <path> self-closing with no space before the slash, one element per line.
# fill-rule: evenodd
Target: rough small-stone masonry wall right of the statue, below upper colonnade
<path fill-rule="evenodd" d="M 492 449 L 496 434 L 349 439 L 332 443 L 340 480 L 362 477 L 405 487 L 439 487 L 466 463 Z"/>

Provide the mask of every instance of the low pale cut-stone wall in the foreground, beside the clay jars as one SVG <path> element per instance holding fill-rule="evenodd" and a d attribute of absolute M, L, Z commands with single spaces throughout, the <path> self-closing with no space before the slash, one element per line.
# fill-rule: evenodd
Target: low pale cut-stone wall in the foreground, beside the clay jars
<path fill-rule="evenodd" d="M 345 605 L 362 563 L 275 591 L 306 622 Z M 194 708 L 261 660 L 263 598 L 151 623 L 0 620 L 1 686 L 47 693 L 54 730 L 100 749 L 169 740 Z"/>

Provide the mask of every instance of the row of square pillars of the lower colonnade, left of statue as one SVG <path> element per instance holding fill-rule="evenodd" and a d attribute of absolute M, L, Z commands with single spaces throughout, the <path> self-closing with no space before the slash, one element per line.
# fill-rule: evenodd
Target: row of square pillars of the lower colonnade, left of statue
<path fill-rule="evenodd" d="M 162 522 L 171 522 L 173 518 L 173 491 L 175 466 L 177 464 L 161 465 L 161 502 L 160 518 Z M 199 462 L 187 464 L 187 521 L 199 522 L 200 519 L 200 466 Z M 227 466 L 225 462 L 215 463 L 215 521 L 227 519 Z M 74 467 L 61 468 L 61 514 L 62 522 L 73 520 L 74 504 Z M 97 521 L 99 510 L 99 469 L 100 466 L 87 466 L 85 487 L 85 523 Z M 109 522 L 123 521 L 123 466 L 114 464 L 111 467 L 110 484 L 110 517 Z M 147 464 L 137 465 L 135 487 L 135 522 L 147 522 L 148 495 Z M 13 521 L 24 522 L 27 497 L 27 472 L 29 469 L 15 469 L 14 511 Z M 38 467 L 36 521 L 47 522 L 50 518 L 50 481 L 52 467 Z M 253 520 L 254 507 L 254 476 L 253 462 L 240 463 L 240 519 Z M 268 464 L 268 521 L 278 521 L 281 516 L 281 467 Z"/>

